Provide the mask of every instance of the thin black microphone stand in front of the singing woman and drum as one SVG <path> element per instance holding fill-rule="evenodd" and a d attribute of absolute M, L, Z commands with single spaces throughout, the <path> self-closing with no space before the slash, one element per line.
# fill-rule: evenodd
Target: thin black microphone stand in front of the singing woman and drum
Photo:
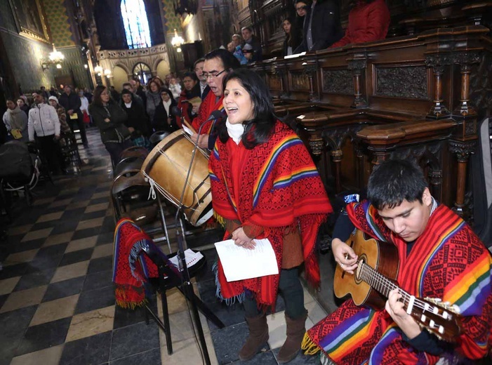
<path fill-rule="evenodd" d="M 197 142 L 194 143 L 192 158 L 190 159 L 190 166 L 188 166 L 188 173 L 187 173 L 186 178 L 185 178 L 185 186 L 182 188 L 180 202 L 178 204 L 178 211 L 176 212 L 176 216 L 175 216 L 175 226 L 176 226 L 176 239 L 178 240 L 178 262 L 180 263 L 180 266 L 181 266 L 180 270 L 181 270 L 181 274 L 183 277 L 182 289 L 183 289 L 183 292 L 185 293 L 185 297 L 187 298 L 187 300 L 189 300 L 189 302 L 192 306 L 192 315 L 193 315 L 194 323 L 197 326 L 198 337 L 199 337 L 199 341 L 200 341 L 200 345 L 201 345 L 201 350 L 203 351 L 203 354 L 204 354 L 205 364 L 211 365 L 210 357 L 208 356 L 208 349 L 207 349 L 207 345 L 206 345 L 206 340 L 205 340 L 205 336 L 204 336 L 204 329 L 201 326 L 201 320 L 200 320 L 200 316 L 199 316 L 199 312 L 198 312 L 197 303 L 194 300 L 193 284 L 190 280 L 190 272 L 188 272 L 188 267 L 186 265 L 186 259 L 185 259 L 185 241 L 186 241 L 186 238 L 185 238 L 185 229 L 184 229 L 183 223 L 182 223 L 182 215 L 184 214 L 184 212 L 182 211 L 182 207 L 183 207 L 182 201 L 185 197 L 186 187 L 188 185 L 188 180 L 190 178 L 190 172 L 191 172 L 191 169 L 193 166 L 194 155 L 196 154 L 197 149 L 198 149 L 198 140 L 199 140 L 199 136 L 200 136 L 200 132 L 201 132 L 201 127 L 203 127 L 204 125 L 205 125 L 205 123 L 201 124 L 201 126 L 198 130 L 198 133 L 197 133 Z M 193 325 L 194 324 L 192 324 L 192 326 Z"/>

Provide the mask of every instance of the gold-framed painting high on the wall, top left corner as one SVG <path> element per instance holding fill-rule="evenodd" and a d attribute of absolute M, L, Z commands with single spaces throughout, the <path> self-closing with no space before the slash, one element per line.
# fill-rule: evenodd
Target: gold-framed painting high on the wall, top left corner
<path fill-rule="evenodd" d="M 19 34 L 38 41 L 49 42 L 50 37 L 40 0 L 8 0 Z"/>

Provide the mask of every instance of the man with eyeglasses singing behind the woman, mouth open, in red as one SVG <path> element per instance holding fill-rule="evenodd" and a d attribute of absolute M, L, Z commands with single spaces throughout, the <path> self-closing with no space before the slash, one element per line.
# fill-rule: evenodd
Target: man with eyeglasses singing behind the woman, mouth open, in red
<path fill-rule="evenodd" d="M 193 120 L 192 126 L 195 131 L 199 131 L 201 127 L 200 135 L 198 138 L 198 145 L 201 148 L 213 149 L 215 138 L 217 137 L 213 131 L 213 125 L 215 120 L 208 120 L 208 117 L 215 110 L 220 110 L 225 116 L 224 106 L 222 100 L 224 99 L 224 90 L 222 80 L 225 75 L 232 69 L 239 68 L 239 61 L 226 49 L 215 49 L 205 56 L 204 62 L 204 78 L 208 83 L 208 87 L 211 92 L 206 95 L 206 98 L 201 102 L 198 110 L 198 117 Z"/>

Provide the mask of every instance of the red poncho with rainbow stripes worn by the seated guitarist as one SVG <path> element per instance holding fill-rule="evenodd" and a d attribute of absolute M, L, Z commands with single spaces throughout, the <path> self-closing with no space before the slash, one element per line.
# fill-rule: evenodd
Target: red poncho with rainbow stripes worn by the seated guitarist
<path fill-rule="evenodd" d="M 471 228 L 444 205 L 406 255 L 406 242 L 386 227 L 368 201 L 350 204 L 352 223 L 399 251 L 399 286 L 411 295 L 441 298 L 460 305 L 463 334 L 455 350 L 470 359 L 486 356 L 491 336 L 492 259 Z M 307 331 L 302 348 L 326 352 L 337 364 L 435 364 L 439 357 L 415 351 L 401 338 L 385 310 L 375 312 L 347 300 Z"/>

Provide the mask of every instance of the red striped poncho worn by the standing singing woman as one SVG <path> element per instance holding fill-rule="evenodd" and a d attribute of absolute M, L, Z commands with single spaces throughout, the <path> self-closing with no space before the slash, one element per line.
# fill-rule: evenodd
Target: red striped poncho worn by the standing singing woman
<path fill-rule="evenodd" d="M 227 143 L 234 143 L 229 139 Z M 302 141 L 285 124 L 277 121 L 270 140 L 253 150 L 241 147 L 241 168 L 231 171 L 232 156 L 227 143 L 217 140 L 208 167 L 211 174 L 213 210 L 218 220 L 237 220 L 241 225 L 264 227 L 257 237 L 270 239 L 282 262 L 284 232 L 293 228 L 302 237 L 302 255 L 307 279 L 319 284 L 319 267 L 314 251 L 319 225 L 332 212 L 316 166 Z M 237 175 L 239 178 L 233 180 Z M 236 185 L 235 185 L 236 184 Z M 237 193 L 236 193 L 237 192 Z M 237 196 L 239 195 L 239 196 Z M 229 238 L 231 232 L 226 232 Z M 218 296 L 241 298 L 251 292 L 258 305 L 274 306 L 279 275 L 227 282 L 218 263 Z"/>

